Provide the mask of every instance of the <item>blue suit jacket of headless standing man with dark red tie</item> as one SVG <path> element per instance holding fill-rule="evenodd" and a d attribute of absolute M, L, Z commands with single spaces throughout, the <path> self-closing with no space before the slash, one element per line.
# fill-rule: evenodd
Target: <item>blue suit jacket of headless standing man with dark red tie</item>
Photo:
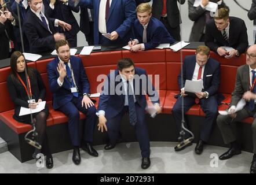
<path fill-rule="evenodd" d="M 94 45 L 100 44 L 100 33 L 98 31 L 98 14 L 100 0 L 81 0 L 80 6 L 94 9 Z M 134 0 L 112 0 L 107 19 L 107 33 L 118 32 L 118 39 L 111 41 L 109 45 L 127 43 L 133 37 L 131 25 L 136 19 L 136 3 Z"/>

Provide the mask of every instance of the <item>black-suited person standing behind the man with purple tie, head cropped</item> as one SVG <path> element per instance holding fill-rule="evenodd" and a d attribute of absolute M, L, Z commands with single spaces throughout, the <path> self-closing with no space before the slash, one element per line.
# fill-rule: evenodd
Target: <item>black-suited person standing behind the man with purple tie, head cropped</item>
<path fill-rule="evenodd" d="M 74 7 L 73 1 L 65 0 L 46 0 L 45 14 L 51 18 L 57 18 L 70 24 L 72 29 L 70 31 L 64 31 L 62 28 L 58 29 L 58 32 L 65 35 L 66 40 L 70 44 L 70 47 L 77 46 L 77 34 L 79 32 L 79 25 L 74 17 L 73 12 L 79 12 L 79 6 Z"/>

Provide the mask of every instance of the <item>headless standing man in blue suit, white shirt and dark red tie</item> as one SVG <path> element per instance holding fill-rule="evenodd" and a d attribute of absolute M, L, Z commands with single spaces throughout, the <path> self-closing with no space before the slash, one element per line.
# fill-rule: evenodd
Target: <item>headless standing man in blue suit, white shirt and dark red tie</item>
<path fill-rule="evenodd" d="M 94 45 L 127 43 L 133 36 L 134 0 L 80 0 L 78 5 L 94 9 Z M 111 34 L 108 38 L 102 35 L 108 33 Z"/>

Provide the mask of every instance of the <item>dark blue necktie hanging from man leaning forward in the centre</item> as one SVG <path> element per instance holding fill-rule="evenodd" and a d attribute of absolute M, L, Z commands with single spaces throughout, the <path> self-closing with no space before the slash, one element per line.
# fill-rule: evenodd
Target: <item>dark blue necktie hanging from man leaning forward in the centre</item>
<path fill-rule="evenodd" d="M 128 96 L 128 105 L 129 105 L 130 124 L 134 126 L 137 123 L 137 116 L 136 116 L 136 110 L 135 110 L 133 90 L 131 89 L 131 84 L 129 83 L 129 81 L 127 81 L 127 96 Z"/>

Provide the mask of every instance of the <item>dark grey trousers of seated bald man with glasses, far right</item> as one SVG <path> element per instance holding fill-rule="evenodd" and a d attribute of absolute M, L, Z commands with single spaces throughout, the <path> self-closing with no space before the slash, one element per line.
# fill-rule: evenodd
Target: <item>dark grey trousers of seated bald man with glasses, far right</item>
<path fill-rule="evenodd" d="M 236 140 L 232 124 L 235 124 L 236 121 L 242 121 L 247 117 L 255 117 L 256 108 L 251 112 L 248 106 L 245 106 L 242 110 L 236 113 L 235 119 L 232 119 L 230 116 L 219 115 L 217 117 L 217 124 L 220 128 L 222 138 L 225 144 L 229 144 Z M 256 119 L 254 119 L 253 124 L 251 125 L 253 133 L 253 153 L 256 154 Z"/>

